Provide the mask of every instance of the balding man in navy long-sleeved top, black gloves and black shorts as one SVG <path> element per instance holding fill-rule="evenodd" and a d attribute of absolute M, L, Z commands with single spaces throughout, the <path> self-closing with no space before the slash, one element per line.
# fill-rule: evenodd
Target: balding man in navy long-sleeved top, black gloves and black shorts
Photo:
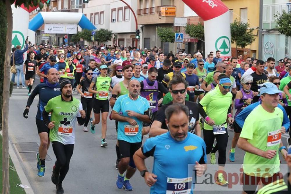
<path fill-rule="evenodd" d="M 36 154 L 38 168 L 38 176 L 45 176 L 45 157 L 47 156 L 47 150 L 49 149 L 49 129 L 45 125 L 42 117 L 42 111 L 44 110 L 47 102 L 60 95 L 60 84 L 58 84 L 58 71 L 51 68 L 47 72 L 47 81 L 45 83 L 40 83 L 34 88 L 31 95 L 29 96 L 26 104 L 26 108 L 23 113 L 24 118 L 28 118 L 29 107 L 33 103 L 33 99 L 36 95 L 39 95 L 38 110 L 36 114 L 36 127 L 38 129 L 38 135 L 40 138 L 40 146 L 38 148 L 38 153 Z"/>

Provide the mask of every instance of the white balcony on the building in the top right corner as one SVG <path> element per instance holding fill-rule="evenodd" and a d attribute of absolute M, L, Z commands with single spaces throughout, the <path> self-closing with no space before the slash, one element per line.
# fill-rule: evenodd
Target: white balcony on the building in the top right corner
<path fill-rule="evenodd" d="M 263 5 L 263 29 L 270 30 L 276 28 L 275 14 L 282 13 L 283 10 L 290 12 L 291 3 L 272 3 Z"/>

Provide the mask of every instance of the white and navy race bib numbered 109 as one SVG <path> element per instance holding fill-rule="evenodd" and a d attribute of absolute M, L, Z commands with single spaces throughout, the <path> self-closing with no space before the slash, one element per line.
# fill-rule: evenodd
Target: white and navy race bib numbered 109
<path fill-rule="evenodd" d="M 175 179 L 167 177 L 166 194 L 189 194 L 191 193 L 192 177 Z"/>

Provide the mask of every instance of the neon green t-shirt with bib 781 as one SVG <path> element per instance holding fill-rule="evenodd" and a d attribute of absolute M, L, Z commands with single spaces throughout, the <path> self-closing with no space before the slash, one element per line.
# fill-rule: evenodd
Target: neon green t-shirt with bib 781
<path fill-rule="evenodd" d="M 264 173 L 269 173 L 272 176 L 280 171 L 278 149 L 281 139 L 278 137 L 281 136 L 282 122 L 283 111 L 278 107 L 275 108 L 273 113 L 269 113 L 265 111 L 262 105 L 259 105 L 248 115 L 239 137 L 248 139 L 251 145 L 263 151 L 276 150 L 277 152 L 272 159 L 246 152 L 243 163 L 246 174 L 254 173 L 255 175 L 252 176 L 260 177 Z M 271 135 L 270 133 L 277 135 Z M 261 169 L 258 174 L 256 174 L 257 169 Z"/>

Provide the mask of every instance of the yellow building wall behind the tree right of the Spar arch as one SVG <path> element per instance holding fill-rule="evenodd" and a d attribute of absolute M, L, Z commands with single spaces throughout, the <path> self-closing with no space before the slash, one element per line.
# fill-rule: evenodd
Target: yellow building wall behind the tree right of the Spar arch
<path fill-rule="evenodd" d="M 247 22 L 250 24 L 250 28 L 259 27 L 259 0 L 222 0 L 225 5 L 233 11 L 233 21 L 237 18 L 238 21 L 241 21 L 240 18 L 240 9 L 247 8 Z M 257 29 L 253 31 L 254 35 L 257 35 Z M 258 58 L 258 49 L 259 49 L 259 39 L 258 36 L 255 36 L 256 40 L 251 44 L 246 46 L 246 49 L 251 50 L 251 54 L 256 52 L 256 58 Z M 232 44 L 231 47 L 235 48 L 236 45 Z M 243 50 L 243 49 L 240 49 Z M 242 52 L 240 52 L 242 53 Z M 242 53 L 244 54 L 244 53 Z M 233 56 L 236 56 L 235 52 L 232 52 Z M 244 56 L 246 58 L 246 56 Z"/>

